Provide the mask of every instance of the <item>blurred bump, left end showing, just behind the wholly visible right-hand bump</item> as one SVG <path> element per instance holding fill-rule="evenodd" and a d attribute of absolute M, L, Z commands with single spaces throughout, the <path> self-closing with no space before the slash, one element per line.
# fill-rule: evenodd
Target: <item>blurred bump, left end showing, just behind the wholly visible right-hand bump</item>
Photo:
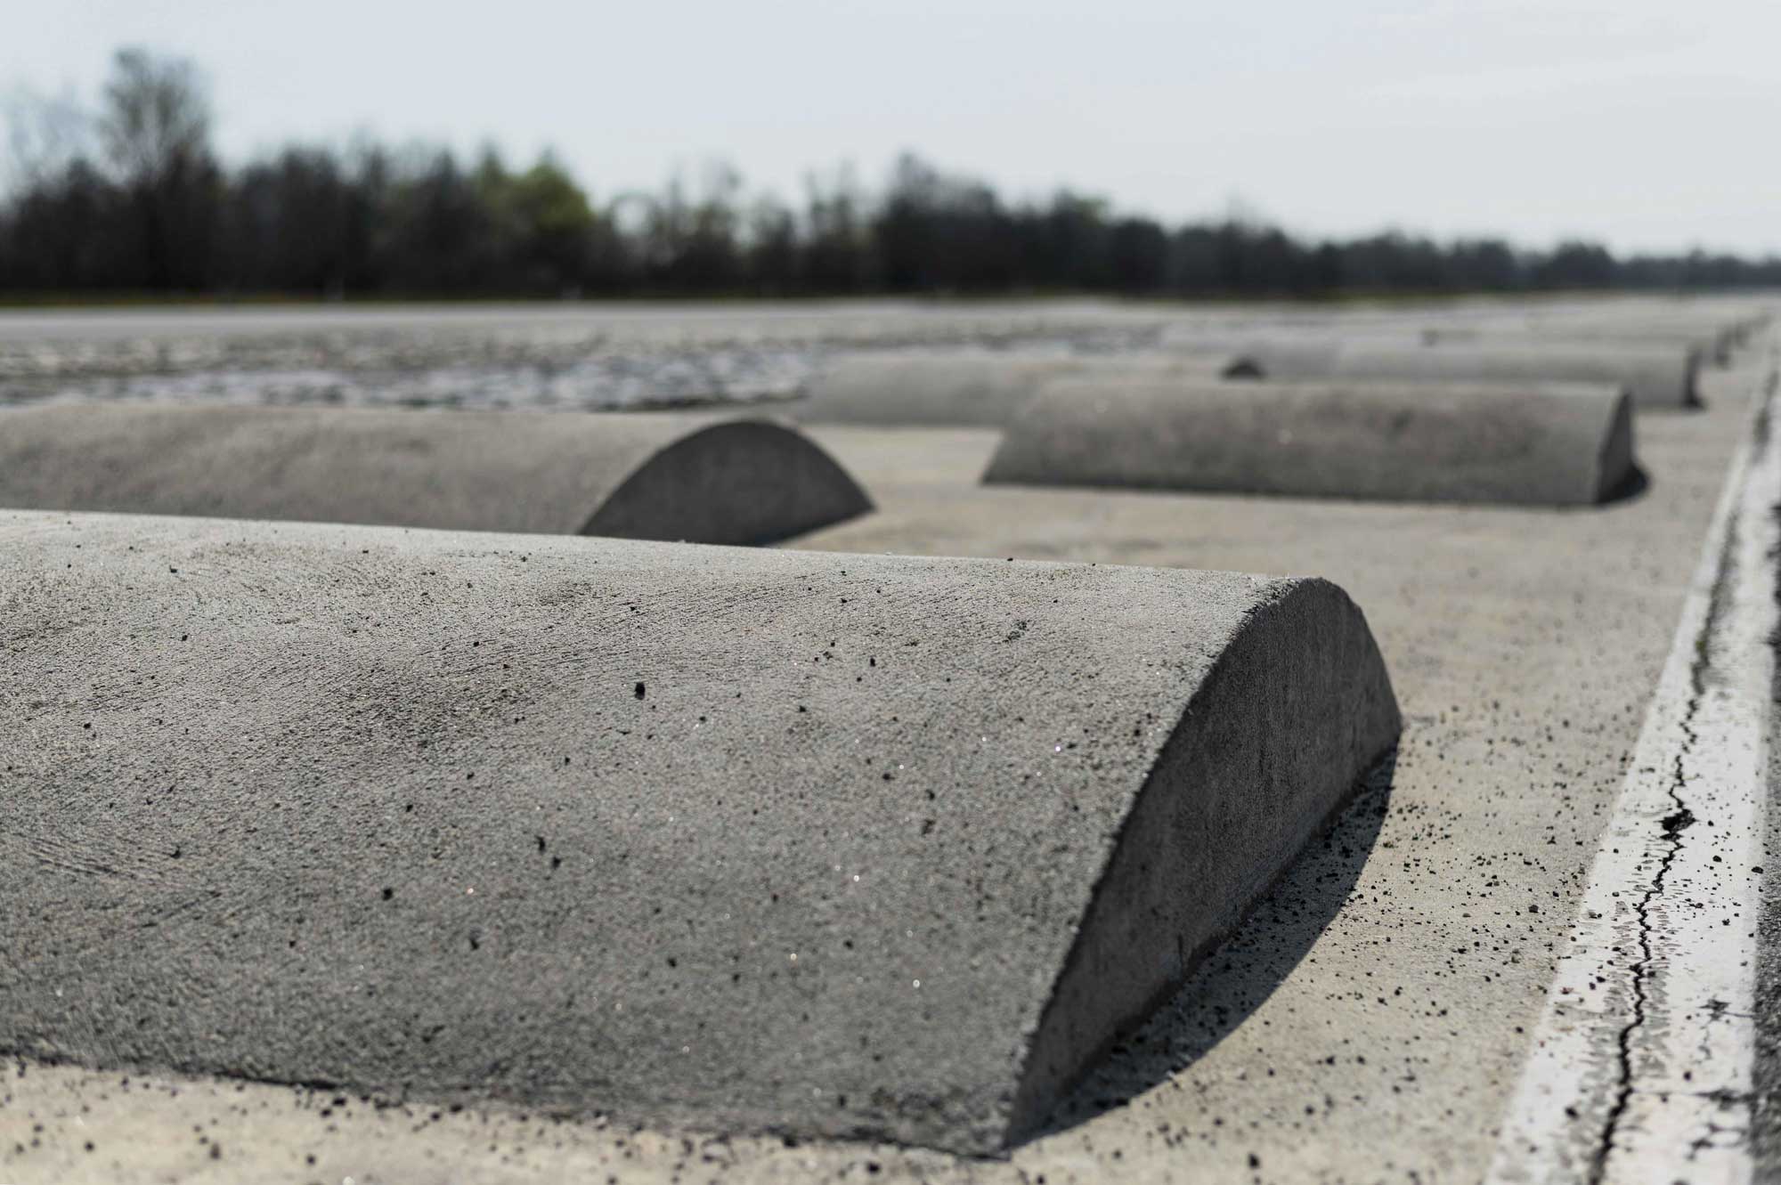
<path fill-rule="evenodd" d="M 805 423 L 1003 427 L 1053 379 L 1248 377 L 1236 356 L 848 354 L 823 367 L 794 415 Z"/>

